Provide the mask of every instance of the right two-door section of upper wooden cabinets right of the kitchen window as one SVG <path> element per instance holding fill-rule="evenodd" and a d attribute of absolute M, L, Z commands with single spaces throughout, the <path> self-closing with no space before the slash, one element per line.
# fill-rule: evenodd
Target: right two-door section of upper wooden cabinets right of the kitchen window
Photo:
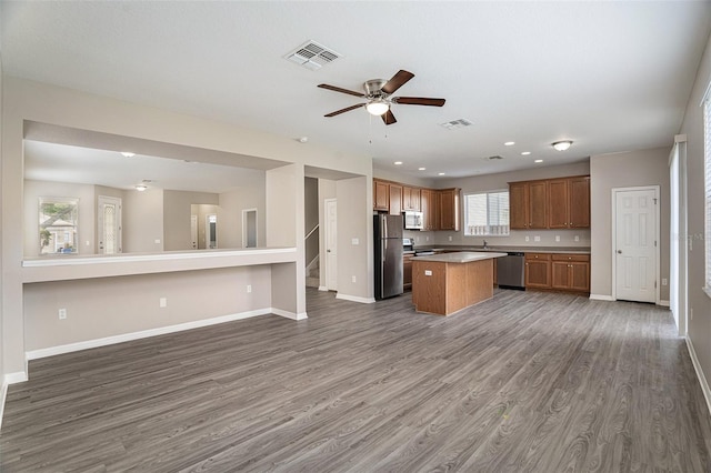
<path fill-rule="evenodd" d="M 548 228 L 590 228 L 590 178 L 551 179 L 548 181 Z"/>

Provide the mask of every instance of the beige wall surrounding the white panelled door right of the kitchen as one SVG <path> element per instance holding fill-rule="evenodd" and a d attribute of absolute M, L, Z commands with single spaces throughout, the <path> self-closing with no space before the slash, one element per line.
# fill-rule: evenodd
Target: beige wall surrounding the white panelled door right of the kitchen
<path fill-rule="evenodd" d="M 590 159 L 590 224 L 592 228 L 590 293 L 612 295 L 612 189 L 660 187 L 660 281 L 669 280 L 669 148 L 593 155 Z M 669 301 L 669 285 L 660 288 Z"/>

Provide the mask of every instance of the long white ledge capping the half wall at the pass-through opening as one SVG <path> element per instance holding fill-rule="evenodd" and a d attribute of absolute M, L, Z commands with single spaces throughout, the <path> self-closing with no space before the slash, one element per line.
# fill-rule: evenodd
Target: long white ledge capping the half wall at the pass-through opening
<path fill-rule="evenodd" d="M 64 266 L 77 264 L 103 264 L 103 263 L 126 263 L 136 261 L 177 261 L 177 260 L 198 260 L 206 258 L 226 258 L 226 256 L 249 256 L 253 254 L 280 254 L 296 253 L 296 248 L 262 248 L 248 250 L 196 250 L 190 252 L 166 252 L 152 254 L 118 254 L 114 256 L 72 256 L 70 254 L 62 258 L 43 258 L 38 260 L 22 261 L 22 268 L 40 268 L 40 266 Z"/>

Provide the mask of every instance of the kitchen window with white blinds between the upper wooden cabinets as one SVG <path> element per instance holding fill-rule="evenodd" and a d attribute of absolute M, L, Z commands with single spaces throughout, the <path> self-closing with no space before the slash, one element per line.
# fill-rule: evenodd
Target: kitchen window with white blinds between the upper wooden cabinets
<path fill-rule="evenodd" d="M 508 234 L 509 191 L 464 195 L 464 235 L 503 236 Z"/>

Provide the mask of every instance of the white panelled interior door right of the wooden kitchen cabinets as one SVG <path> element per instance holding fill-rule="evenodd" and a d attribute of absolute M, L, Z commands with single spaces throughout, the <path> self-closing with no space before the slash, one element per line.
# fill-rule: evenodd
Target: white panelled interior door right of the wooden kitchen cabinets
<path fill-rule="evenodd" d="M 615 299 L 657 302 L 657 190 L 617 190 Z"/>

